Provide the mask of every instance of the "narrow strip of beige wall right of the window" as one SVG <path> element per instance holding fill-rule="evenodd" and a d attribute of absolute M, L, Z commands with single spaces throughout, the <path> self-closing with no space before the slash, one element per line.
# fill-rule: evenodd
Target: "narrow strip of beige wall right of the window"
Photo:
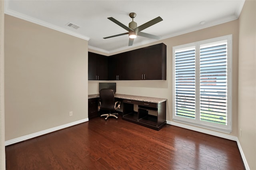
<path fill-rule="evenodd" d="M 238 135 L 251 170 L 256 170 L 256 1 L 246 0 L 239 17 Z"/>

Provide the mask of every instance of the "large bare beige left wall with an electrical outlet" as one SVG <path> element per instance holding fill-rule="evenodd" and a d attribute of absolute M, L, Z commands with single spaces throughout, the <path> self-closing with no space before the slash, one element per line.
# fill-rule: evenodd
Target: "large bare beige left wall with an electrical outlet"
<path fill-rule="evenodd" d="M 88 118 L 88 41 L 9 15 L 4 36 L 5 140 Z"/>

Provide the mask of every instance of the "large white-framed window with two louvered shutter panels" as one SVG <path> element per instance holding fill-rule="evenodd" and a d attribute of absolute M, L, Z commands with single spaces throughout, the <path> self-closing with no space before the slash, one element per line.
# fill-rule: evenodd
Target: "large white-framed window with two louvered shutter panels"
<path fill-rule="evenodd" d="M 173 47 L 173 120 L 232 131 L 232 35 Z"/>

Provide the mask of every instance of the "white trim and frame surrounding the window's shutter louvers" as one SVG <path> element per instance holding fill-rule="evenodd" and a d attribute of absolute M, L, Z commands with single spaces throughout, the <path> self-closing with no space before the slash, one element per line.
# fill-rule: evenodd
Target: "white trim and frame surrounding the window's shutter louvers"
<path fill-rule="evenodd" d="M 205 122 L 205 121 L 200 121 L 200 116 L 199 113 L 196 116 L 196 119 L 189 119 L 189 118 L 185 118 L 185 117 L 179 117 L 175 115 L 175 89 L 176 89 L 176 85 L 175 85 L 175 50 L 176 49 L 182 49 L 182 48 L 188 48 L 188 47 L 196 47 L 196 57 L 200 56 L 200 45 L 202 44 L 206 44 L 206 43 L 213 43 L 213 42 L 218 42 L 218 41 L 223 41 L 223 40 L 227 40 L 227 72 L 228 72 L 228 83 L 227 83 L 227 93 L 228 93 L 228 105 L 227 105 L 227 125 L 219 125 L 216 123 L 210 123 L 210 122 Z M 196 65 L 198 65 L 198 63 L 200 64 L 200 60 L 196 60 Z M 196 77 L 200 77 L 200 70 L 196 69 Z M 197 78 L 196 78 L 197 79 Z M 200 81 L 199 85 L 196 84 L 196 91 L 200 91 Z M 197 127 L 202 127 L 202 128 L 208 128 L 211 130 L 216 130 L 216 131 L 220 131 L 220 132 L 225 132 L 225 133 L 230 133 L 232 132 L 232 35 L 228 35 L 228 36 L 222 36 L 222 37 L 218 37 L 218 38 L 212 38 L 212 39 L 208 39 L 208 40 L 203 40 L 203 41 L 199 41 L 199 42 L 194 42 L 194 43 L 188 43 L 188 44 L 184 44 L 184 45 L 178 45 L 175 47 L 172 47 L 172 119 L 173 121 L 176 122 L 180 122 L 180 123 L 185 123 L 188 125 L 194 125 Z M 198 90 L 199 89 L 199 90 Z M 198 95 L 199 96 L 199 95 Z M 198 99 L 196 99 L 198 100 Z M 199 101 L 199 100 L 198 100 Z M 200 102 L 196 102 L 198 105 L 200 105 Z M 196 106 L 197 107 L 197 106 Z M 216 125 L 218 127 L 216 127 Z"/>

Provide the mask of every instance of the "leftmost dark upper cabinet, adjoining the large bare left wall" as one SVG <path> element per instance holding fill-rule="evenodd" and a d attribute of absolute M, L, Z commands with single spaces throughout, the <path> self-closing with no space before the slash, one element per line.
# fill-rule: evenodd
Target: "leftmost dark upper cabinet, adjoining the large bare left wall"
<path fill-rule="evenodd" d="M 88 52 L 88 80 L 108 80 L 108 57 Z"/>

